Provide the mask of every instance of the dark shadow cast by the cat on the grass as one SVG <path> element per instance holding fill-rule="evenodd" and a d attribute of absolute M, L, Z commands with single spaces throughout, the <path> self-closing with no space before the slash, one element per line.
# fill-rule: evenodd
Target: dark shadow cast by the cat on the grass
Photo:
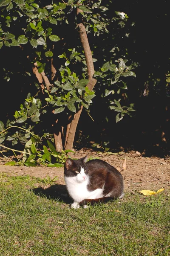
<path fill-rule="evenodd" d="M 31 189 L 32 192 L 34 192 L 35 195 L 38 195 L 40 197 L 46 197 L 48 199 L 57 200 L 59 202 L 63 202 L 65 204 L 71 204 L 73 201 L 69 197 L 66 186 L 65 185 L 51 185 L 48 188 L 34 188 Z"/>

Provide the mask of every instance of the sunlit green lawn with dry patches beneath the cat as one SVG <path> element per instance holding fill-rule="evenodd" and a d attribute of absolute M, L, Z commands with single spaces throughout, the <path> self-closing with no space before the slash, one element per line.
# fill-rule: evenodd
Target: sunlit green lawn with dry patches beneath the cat
<path fill-rule="evenodd" d="M 0 255 L 2 256 L 168 256 L 170 200 L 165 192 L 71 209 L 37 195 L 54 180 L 0 176 Z M 50 188 L 48 188 L 50 189 Z"/>

